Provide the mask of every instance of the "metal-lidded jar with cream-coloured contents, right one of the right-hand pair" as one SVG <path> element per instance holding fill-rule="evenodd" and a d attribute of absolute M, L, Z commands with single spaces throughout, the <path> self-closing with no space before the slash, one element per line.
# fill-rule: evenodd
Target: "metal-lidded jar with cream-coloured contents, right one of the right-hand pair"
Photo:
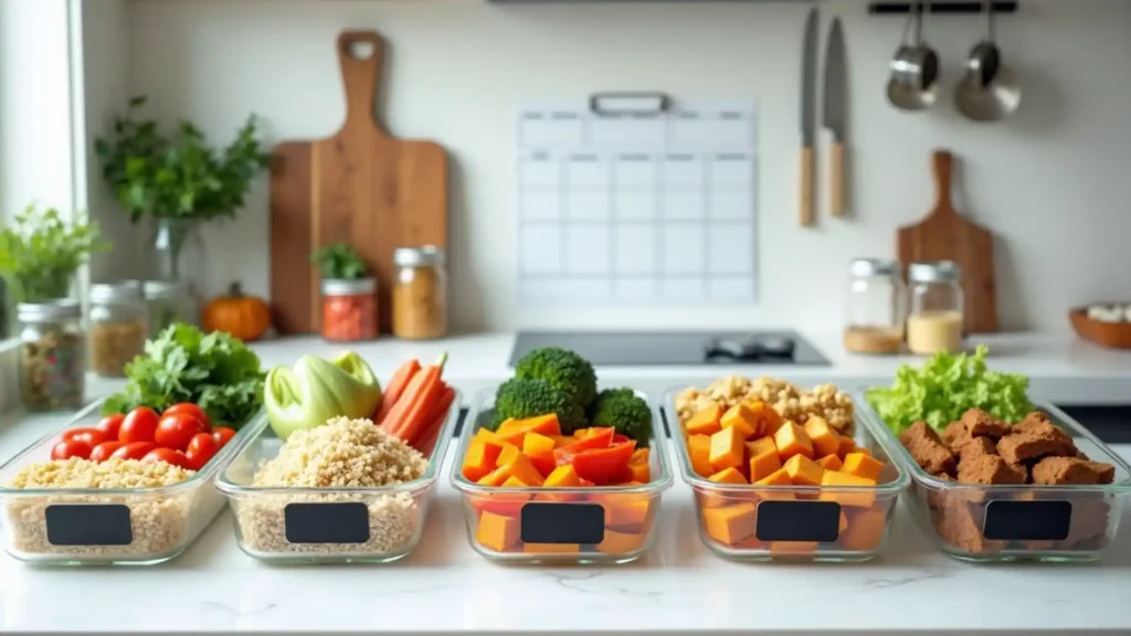
<path fill-rule="evenodd" d="M 955 353 L 962 346 L 962 273 L 957 263 L 913 263 L 907 270 L 912 309 L 907 349 L 921 355 Z"/>

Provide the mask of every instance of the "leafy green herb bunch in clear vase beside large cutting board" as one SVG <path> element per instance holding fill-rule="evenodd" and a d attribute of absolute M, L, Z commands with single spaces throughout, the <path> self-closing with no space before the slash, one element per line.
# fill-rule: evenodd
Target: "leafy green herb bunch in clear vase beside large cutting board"
<path fill-rule="evenodd" d="M 269 155 L 250 115 L 225 148 L 213 148 L 204 132 L 182 121 L 171 136 L 140 117 L 145 97 L 135 97 L 113 129 L 95 141 L 102 175 L 133 223 L 149 217 L 150 277 L 185 282 L 198 296 L 205 268 L 204 223 L 233 218 L 252 179 Z"/>

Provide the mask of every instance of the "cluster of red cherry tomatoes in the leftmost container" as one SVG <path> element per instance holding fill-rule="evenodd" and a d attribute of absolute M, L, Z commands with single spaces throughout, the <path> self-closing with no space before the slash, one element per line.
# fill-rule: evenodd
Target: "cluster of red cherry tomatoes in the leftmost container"
<path fill-rule="evenodd" d="M 138 406 L 124 415 L 106 415 L 97 426 L 64 432 L 51 449 L 51 458 L 105 462 L 116 457 L 165 462 L 199 471 L 233 437 L 233 429 L 213 428 L 208 415 L 196 404 L 174 404 L 161 415 L 153 409 Z"/>

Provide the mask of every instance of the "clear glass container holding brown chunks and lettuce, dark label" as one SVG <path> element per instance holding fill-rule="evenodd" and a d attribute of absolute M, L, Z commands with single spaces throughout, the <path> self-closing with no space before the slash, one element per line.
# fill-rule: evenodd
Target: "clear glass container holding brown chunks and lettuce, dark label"
<path fill-rule="evenodd" d="M 910 473 L 907 504 L 947 555 L 964 561 L 1078 562 L 1098 559 L 1112 545 L 1128 493 L 1131 467 L 1056 406 L 1034 401 L 1093 462 L 1115 466 L 1099 485 L 969 484 L 941 480 L 912 458 L 879 414 L 857 394 L 861 414 L 882 428 L 893 456 Z"/>

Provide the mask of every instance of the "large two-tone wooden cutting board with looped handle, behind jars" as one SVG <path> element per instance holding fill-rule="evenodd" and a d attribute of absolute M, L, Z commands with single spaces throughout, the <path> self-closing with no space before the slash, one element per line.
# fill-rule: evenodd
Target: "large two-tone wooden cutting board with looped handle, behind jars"
<path fill-rule="evenodd" d="M 447 154 L 432 141 L 391 137 L 377 121 L 385 41 L 375 32 L 344 32 L 337 54 L 346 93 L 342 129 L 273 151 L 270 290 L 280 334 L 320 328 L 319 277 L 310 264 L 316 249 L 345 241 L 357 251 L 377 275 L 387 333 L 394 250 L 447 247 Z"/>

